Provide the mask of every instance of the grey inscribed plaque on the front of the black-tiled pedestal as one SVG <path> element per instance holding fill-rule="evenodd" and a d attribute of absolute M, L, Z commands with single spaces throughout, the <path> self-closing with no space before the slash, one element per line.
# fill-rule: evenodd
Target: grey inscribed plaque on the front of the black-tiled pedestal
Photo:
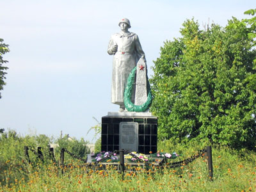
<path fill-rule="evenodd" d="M 138 151 L 138 123 L 121 122 L 119 149 Z"/>

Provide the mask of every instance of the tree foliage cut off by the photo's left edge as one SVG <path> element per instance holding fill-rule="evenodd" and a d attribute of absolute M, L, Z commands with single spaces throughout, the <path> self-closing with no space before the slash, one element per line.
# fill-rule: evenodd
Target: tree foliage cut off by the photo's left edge
<path fill-rule="evenodd" d="M 6 72 L 4 72 L 4 70 L 8 69 L 8 67 L 3 66 L 4 63 L 8 62 L 6 60 L 3 60 L 3 54 L 10 51 L 8 49 L 9 45 L 4 44 L 3 41 L 4 40 L 0 38 L 0 91 L 3 90 L 3 86 L 5 84 L 4 79 L 6 79 L 5 75 L 7 74 Z M 1 99 L 1 92 L 0 92 L 0 99 Z"/>

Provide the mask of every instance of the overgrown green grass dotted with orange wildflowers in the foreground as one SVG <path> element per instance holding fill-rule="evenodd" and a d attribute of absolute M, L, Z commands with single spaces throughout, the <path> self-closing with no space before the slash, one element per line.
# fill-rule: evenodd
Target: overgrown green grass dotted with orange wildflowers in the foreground
<path fill-rule="evenodd" d="M 111 167 L 91 170 L 68 154 L 65 159 L 70 166 L 63 173 L 49 159 L 41 163 L 32 153 L 29 156 L 35 164 L 28 164 L 23 147 L 33 144 L 31 138 L 2 136 L 0 141 L 0 191 L 256 191 L 256 153 L 248 150 L 212 146 L 212 181 L 204 157 L 180 168 L 166 166 L 156 172 L 137 168 L 137 173 L 125 172 L 122 179 Z M 161 141 L 159 149 L 182 154 L 180 159 L 170 160 L 173 162 L 192 156 L 207 144 L 195 141 L 184 146 Z"/>

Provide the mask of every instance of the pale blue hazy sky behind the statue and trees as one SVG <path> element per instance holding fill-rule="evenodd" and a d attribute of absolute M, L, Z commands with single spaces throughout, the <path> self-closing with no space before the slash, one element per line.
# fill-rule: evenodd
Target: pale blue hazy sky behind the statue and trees
<path fill-rule="evenodd" d="M 226 26 L 243 19 L 255 0 L 0 0 L 0 38 L 10 45 L 4 54 L 6 86 L 1 91 L 0 128 L 20 135 L 60 132 L 94 142 L 90 127 L 111 104 L 113 56 L 107 53 L 118 22 L 126 17 L 140 38 L 148 75 L 166 40 L 180 37 L 186 19 Z"/>

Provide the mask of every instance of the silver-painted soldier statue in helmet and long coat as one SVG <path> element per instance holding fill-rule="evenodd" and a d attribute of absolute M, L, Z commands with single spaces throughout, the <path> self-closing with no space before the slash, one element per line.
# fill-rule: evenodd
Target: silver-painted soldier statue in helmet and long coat
<path fill-rule="evenodd" d="M 129 32 L 130 21 L 121 19 L 118 26 L 121 31 L 111 36 L 108 45 L 108 54 L 113 54 L 113 76 L 111 88 L 111 102 L 120 106 L 120 112 L 125 110 L 124 90 L 127 78 L 140 58 L 145 60 L 140 40 L 135 33 Z"/>

